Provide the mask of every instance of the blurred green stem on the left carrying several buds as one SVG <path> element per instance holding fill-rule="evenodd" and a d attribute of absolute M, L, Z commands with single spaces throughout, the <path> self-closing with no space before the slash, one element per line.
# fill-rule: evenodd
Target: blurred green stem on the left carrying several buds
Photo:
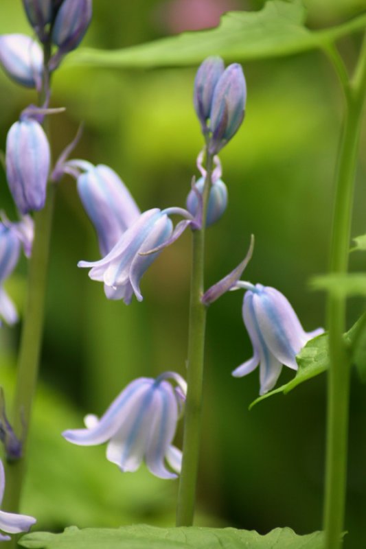
<path fill-rule="evenodd" d="M 39 102 L 41 105 L 45 102 L 49 90 L 49 72 L 47 65 L 50 54 L 50 45 L 45 44 L 43 89 L 39 94 Z M 46 119 L 46 133 L 48 133 L 47 129 Z M 38 379 L 38 366 L 44 324 L 49 242 L 54 211 L 54 193 L 54 185 L 48 185 L 45 207 L 41 211 L 36 211 L 34 213 L 34 240 L 32 245 L 32 256 L 30 257 L 29 262 L 27 301 L 25 304 L 21 332 L 12 414 L 14 432 L 23 443 L 23 452 L 22 457 L 19 460 L 5 463 L 6 484 L 3 509 L 14 513 L 19 512 L 21 490 L 25 475 L 27 436 L 30 428 L 32 403 Z M 8 546 L 16 546 L 16 537 L 12 538 L 12 541 L 9 542 Z"/>

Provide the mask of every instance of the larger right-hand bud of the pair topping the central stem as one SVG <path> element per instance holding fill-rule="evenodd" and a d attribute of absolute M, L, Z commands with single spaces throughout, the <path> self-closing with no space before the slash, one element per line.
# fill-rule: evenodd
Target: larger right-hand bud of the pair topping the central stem
<path fill-rule="evenodd" d="M 236 134 L 244 119 L 247 85 L 242 67 L 229 65 L 218 80 L 210 113 L 209 153 L 216 154 Z"/>

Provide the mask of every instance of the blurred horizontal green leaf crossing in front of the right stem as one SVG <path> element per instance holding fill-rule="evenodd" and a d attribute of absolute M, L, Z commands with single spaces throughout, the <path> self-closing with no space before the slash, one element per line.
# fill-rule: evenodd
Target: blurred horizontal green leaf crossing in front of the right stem
<path fill-rule="evenodd" d="M 312 290 L 326 290 L 335 297 L 366 296 L 366 273 L 332 273 L 314 277 L 310 281 Z"/>

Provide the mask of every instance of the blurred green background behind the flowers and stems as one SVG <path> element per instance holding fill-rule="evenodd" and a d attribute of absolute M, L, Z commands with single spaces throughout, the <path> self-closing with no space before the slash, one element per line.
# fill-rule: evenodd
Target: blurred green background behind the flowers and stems
<path fill-rule="evenodd" d="M 345 21 L 365 9 L 364 0 L 308 0 L 312 28 Z M 262 1 L 94 1 L 82 45 L 125 47 L 181 30 L 203 28 L 228 10 L 258 10 Z M 178 15 L 177 15 L 178 14 Z M 0 32 L 32 34 L 20 0 L 2 0 Z M 352 67 L 359 36 L 340 45 Z M 235 61 L 235 60 L 233 60 Z M 54 76 L 54 154 L 80 121 L 84 132 L 75 156 L 113 167 L 142 210 L 183 206 L 202 138 L 192 107 L 196 67 L 118 71 L 60 67 Z M 247 115 L 222 151 L 229 188 L 224 218 L 207 235 L 207 285 L 242 259 L 255 235 L 244 277 L 286 294 L 305 329 L 324 325 L 324 298 L 308 291 L 308 279 L 328 264 L 334 170 L 341 129 L 339 86 L 320 53 L 251 62 Z M 0 74 L 0 148 L 19 112 L 35 102 Z M 366 148 L 365 125 L 361 152 Z M 361 157 L 352 235 L 366 232 L 366 157 Z M 14 206 L 0 170 L 1 209 Z M 71 178 L 58 189 L 47 292 L 42 386 L 36 397 L 29 476 L 23 511 L 38 528 L 119 526 L 132 522 L 174 524 L 177 482 L 144 469 L 121 474 L 104 448 L 68 445 L 60 436 L 77 428 L 87 412 L 101 414 L 131 379 L 173 369 L 185 375 L 190 234 L 163 252 L 145 275 L 142 303 L 126 307 L 104 298 L 102 285 L 78 270 L 80 259 L 98 259 L 93 228 Z M 361 253 L 353 270 L 365 270 Z M 7 287 L 19 309 L 25 292 L 23 260 Z M 277 395 L 251 412 L 258 371 L 242 379 L 231 371 L 251 356 L 241 317 L 242 294 L 229 293 L 209 310 L 197 524 L 230 525 L 266 533 L 290 526 L 297 533 L 321 528 L 325 377 Z M 350 302 L 350 325 L 363 312 Z M 1 330 L 0 380 L 11 398 L 20 327 Z M 280 381 L 293 375 L 284 371 Z M 352 382 L 350 469 L 345 547 L 366 546 L 366 399 Z M 178 434 L 181 439 L 181 428 Z"/>

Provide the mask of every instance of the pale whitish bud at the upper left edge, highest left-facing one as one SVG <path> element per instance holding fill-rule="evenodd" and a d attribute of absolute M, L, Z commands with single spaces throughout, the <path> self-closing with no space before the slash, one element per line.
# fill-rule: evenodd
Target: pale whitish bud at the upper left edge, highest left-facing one
<path fill-rule="evenodd" d="M 43 71 L 41 47 L 24 34 L 0 36 L 0 63 L 6 73 L 28 88 L 39 88 Z"/>

